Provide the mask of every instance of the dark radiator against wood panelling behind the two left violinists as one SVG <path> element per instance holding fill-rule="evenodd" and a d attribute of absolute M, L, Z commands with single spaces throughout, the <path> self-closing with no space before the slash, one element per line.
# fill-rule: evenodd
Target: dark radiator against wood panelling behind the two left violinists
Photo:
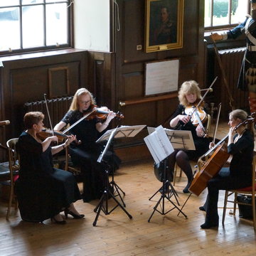
<path fill-rule="evenodd" d="M 71 97 L 60 97 L 56 99 L 47 100 L 47 106 L 50 114 L 50 119 L 53 124 L 58 124 L 60 120 L 64 117 L 65 113 L 68 112 L 70 104 L 73 100 L 73 96 Z M 25 112 L 31 111 L 40 111 L 45 115 L 45 119 L 43 121 L 45 127 L 50 129 L 50 122 L 48 119 L 46 102 L 44 100 L 36 101 L 36 102 L 26 102 Z"/>

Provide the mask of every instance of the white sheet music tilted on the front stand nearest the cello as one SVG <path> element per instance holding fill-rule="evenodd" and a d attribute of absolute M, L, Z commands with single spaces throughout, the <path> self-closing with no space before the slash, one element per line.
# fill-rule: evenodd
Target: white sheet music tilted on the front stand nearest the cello
<path fill-rule="evenodd" d="M 156 164 L 166 159 L 174 151 L 162 126 L 157 127 L 154 132 L 144 138 L 144 141 Z"/>

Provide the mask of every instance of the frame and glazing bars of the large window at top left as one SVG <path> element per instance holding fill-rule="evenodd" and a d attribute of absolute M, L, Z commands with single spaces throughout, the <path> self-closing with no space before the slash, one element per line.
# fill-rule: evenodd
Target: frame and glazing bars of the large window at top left
<path fill-rule="evenodd" d="M 8 1 L 8 0 L 6 0 Z M 46 3 L 46 0 L 43 0 L 43 3 L 37 3 L 37 4 L 21 4 L 22 0 L 19 0 L 19 4 L 16 4 L 15 6 L 3 6 L 3 8 L 14 8 L 18 7 L 18 13 L 19 13 L 19 28 L 20 28 L 20 42 L 21 42 L 21 48 L 19 49 L 11 49 L 10 50 L 1 50 L 0 51 L 0 57 L 1 56 L 6 56 L 6 55 L 17 55 L 17 54 L 22 54 L 22 53 L 36 53 L 36 52 L 43 52 L 43 51 L 48 51 L 48 50 L 63 50 L 63 49 L 68 49 L 68 48 L 74 48 L 74 21 L 73 21 L 73 0 L 68 0 L 68 10 L 67 10 L 67 26 L 68 26 L 68 31 L 67 31 L 67 37 L 68 37 L 68 43 L 64 44 L 59 44 L 58 46 L 46 46 L 46 6 L 51 3 Z M 57 2 L 58 4 L 65 3 L 65 1 L 60 1 Z M 43 5 L 43 36 L 44 36 L 44 45 L 45 46 L 38 46 L 38 47 L 31 47 L 31 48 L 22 48 L 22 18 L 21 18 L 21 13 L 22 13 L 22 7 L 23 6 L 38 6 L 38 5 Z M 0 7 L 1 8 L 1 7 Z"/>

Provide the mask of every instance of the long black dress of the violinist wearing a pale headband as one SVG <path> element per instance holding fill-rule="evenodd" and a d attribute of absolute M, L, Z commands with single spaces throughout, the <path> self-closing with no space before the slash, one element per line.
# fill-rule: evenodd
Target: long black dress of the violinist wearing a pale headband
<path fill-rule="evenodd" d="M 65 114 L 61 121 L 72 125 L 82 117 L 82 112 L 71 110 Z M 76 135 L 78 141 L 81 142 L 81 144 L 70 144 L 70 156 L 74 164 L 81 166 L 82 199 L 84 202 L 89 202 L 102 196 L 105 188 L 105 169 L 110 168 L 110 170 L 114 171 L 119 168 L 121 162 L 112 150 L 107 151 L 107 156 L 104 159 L 107 165 L 97 162 L 100 153 L 104 149 L 103 144 L 95 143 L 99 135 L 96 129 L 97 122 L 101 121 L 96 118 L 84 119 L 71 129 L 71 133 Z"/>

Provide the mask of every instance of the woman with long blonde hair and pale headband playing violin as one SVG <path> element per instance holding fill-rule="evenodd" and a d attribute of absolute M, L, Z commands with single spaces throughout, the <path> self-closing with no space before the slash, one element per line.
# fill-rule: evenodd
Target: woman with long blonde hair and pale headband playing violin
<path fill-rule="evenodd" d="M 85 88 L 80 88 L 75 92 L 73 102 L 69 111 L 63 119 L 55 125 L 55 130 L 61 130 L 67 124 L 75 124 L 84 114 L 90 112 L 90 107 L 95 105 L 95 100 L 91 92 Z M 97 159 L 102 151 L 102 144 L 95 143 L 99 132 L 104 131 L 110 121 L 115 117 L 115 113 L 110 111 L 105 121 L 97 117 L 83 119 L 76 124 L 71 132 L 76 135 L 80 144 L 70 145 L 70 156 L 75 165 L 81 166 L 83 193 L 82 198 L 85 202 L 100 198 L 104 189 L 103 175 L 105 166 L 99 164 Z M 119 158 L 111 151 L 108 152 L 108 161 L 114 169 L 118 169 Z"/>

